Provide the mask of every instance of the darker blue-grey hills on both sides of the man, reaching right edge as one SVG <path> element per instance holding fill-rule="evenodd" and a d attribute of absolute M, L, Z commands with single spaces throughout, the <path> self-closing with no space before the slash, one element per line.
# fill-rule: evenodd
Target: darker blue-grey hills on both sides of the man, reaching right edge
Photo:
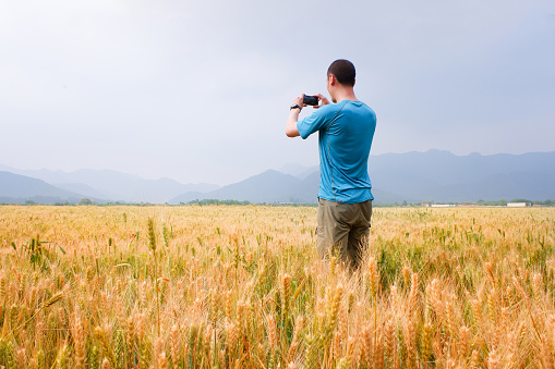
<path fill-rule="evenodd" d="M 257 179 L 255 182 L 245 180 L 204 195 L 184 194 L 171 201 L 178 198 L 178 204 L 196 198 L 316 201 L 319 184 L 317 167 L 288 163 L 280 171 L 295 176 L 298 181 L 279 176 L 276 171 L 272 175 L 265 172 L 252 177 Z M 370 157 L 369 172 L 375 204 L 555 198 L 555 152 L 456 156 L 449 151 L 430 150 L 386 153 Z M 256 188 L 251 188 L 254 183 Z M 263 196 L 264 192 L 266 195 Z"/>

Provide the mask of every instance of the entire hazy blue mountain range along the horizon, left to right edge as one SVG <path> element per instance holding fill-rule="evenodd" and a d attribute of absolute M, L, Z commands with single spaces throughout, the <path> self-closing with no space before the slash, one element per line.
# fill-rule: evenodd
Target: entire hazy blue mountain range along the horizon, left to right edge
<path fill-rule="evenodd" d="M 555 198 L 555 151 L 523 155 L 449 151 L 371 156 L 369 172 L 376 204 L 432 200 L 476 201 Z M 227 186 L 182 184 L 171 179 L 145 180 L 108 170 L 19 170 L 0 165 L 0 202 L 180 204 L 201 199 L 251 202 L 316 202 L 318 167 L 288 163 Z"/>

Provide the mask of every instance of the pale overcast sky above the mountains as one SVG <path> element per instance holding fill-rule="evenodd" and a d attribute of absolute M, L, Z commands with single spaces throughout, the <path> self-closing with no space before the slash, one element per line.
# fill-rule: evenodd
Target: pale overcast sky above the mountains
<path fill-rule="evenodd" d="M 0 0 L 0 164 L 216 184 L 317 164 L 285 124 L 340 58 L 374 155 L 555 150 L 553 0 Z"/>

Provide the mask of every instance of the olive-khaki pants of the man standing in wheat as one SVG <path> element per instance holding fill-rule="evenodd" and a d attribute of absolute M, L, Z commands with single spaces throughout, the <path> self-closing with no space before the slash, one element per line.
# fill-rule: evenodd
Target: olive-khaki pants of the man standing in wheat
<path fill-rule="evenodd" d="M 318 227 L 316 247 L 326 258 L 338 251 L 342 261 L 357 268 L 367 245 L 372 200 L 359 204 L 340 204 L 318 199 Z"/>

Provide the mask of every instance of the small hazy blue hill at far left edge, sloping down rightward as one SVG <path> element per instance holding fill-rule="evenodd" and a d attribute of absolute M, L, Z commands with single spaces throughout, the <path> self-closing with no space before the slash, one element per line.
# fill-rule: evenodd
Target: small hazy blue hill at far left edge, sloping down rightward
<path fill-rule="evenodd" d="M 79 202 L 83 197 L 41 180 L 0 171 L 0 202 L 23 204 L 27 200 L 39 204 Z"/>

